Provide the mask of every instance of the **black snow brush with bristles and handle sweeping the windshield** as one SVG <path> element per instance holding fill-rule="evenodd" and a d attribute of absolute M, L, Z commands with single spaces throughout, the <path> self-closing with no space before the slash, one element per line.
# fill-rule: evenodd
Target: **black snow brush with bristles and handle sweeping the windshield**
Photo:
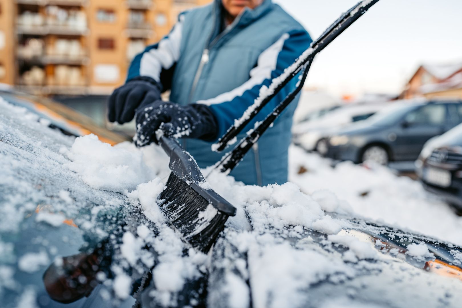
<path fill-rule="evenodd" d="M 170 157 L 171 170 L 159 206 L 186 242 L 207 253 L 236 208 L 209 187 L 194 158 L 175 139 L 162 136 L 159 145 Z"/>

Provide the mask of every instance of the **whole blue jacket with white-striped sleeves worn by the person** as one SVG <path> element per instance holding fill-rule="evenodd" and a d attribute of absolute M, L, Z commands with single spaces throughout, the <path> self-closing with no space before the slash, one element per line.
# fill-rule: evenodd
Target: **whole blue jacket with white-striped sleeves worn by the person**
<path fill-rule="evenodd" d="M 244 9 L 227 27 L 223 12 L 222 0 L 214 0 L 180 14 L 168 36 L 135 57 L 127 77 L 129 81 L 147 76 L 170 88 L 171 102 L 208 105 L 218 121 L 219 136 L 254 103 L 260 89 L 279 77 L 311 43 L 306 30 L 271 0 L 263 0 L 253 10 Z M 297 82 L 295 78 L 288 83 L 238 139 L 271 113 Z M 287 151 L 297 103 L 298 97 L 232 170 L 236 180 L 261 186 L 287 181 Z M 201 168 L 225 154 L 213 152 L 211 142 L 181 142 Z"/>

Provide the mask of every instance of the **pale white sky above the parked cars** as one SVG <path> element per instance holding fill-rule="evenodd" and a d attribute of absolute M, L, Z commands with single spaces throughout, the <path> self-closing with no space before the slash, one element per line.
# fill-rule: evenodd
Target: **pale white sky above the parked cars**
<path fill-rule="evenodd" d="M 316 39 L 358 0 L 273 0 Z M 336 96 L 400 93 L 422 63 L 462 62 L 461 0 L 380 0 L 316 55 L 305 83 Z"/>

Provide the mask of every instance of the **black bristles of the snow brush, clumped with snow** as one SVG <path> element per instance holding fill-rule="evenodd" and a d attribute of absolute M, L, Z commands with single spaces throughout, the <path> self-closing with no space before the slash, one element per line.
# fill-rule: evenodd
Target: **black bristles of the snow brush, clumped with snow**
<path fill-rule="evenodd" d="M 213 218 L 200 217 L 210 203 L 173 173 L 166 187 L 159 197 L 160 208 L 191 246 L 207 253 L 225 228 L 229 215 L 214 208 Z"/>

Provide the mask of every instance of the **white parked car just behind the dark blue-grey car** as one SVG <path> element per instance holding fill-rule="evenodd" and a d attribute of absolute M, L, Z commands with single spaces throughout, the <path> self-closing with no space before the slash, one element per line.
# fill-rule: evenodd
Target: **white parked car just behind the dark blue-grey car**
<path fill-rule="evenodd" d="M 325 145 L 322 141 L 332 131 L 338 127 L 365 120 L 386 106 L 385 103 L 368 103 L 331 108 L 315 119 L 294 125 L 292 128 L 293 142 L 307 151 L 325 153 Z"/>

